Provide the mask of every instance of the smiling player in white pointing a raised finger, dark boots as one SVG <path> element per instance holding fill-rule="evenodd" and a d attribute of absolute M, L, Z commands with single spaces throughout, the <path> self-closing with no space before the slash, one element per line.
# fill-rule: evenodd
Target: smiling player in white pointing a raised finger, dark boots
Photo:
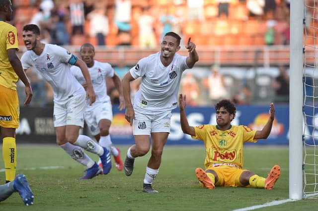
<path fill-rule="evenodd" d="M 178 89 L 184 70 L 192 68 L 199 60 L 195 44 L 188 40 L 185 48 L 188 56 L 181 56 L 180 36 L 174 32 L 164 35 L 156 54 L 142 58 L 130 69 L 122 80 L 126 104 L 125 118 L 134 129 L 135 144 L 128 151 L 124 172 L 130 176 L 135 158 L 146 155 L 150 150 L 142 191 L 158 193 L 152 183 L 159 172 L 163 147 L 170 133 L 171 110 L 178 104 Z M 134 106 L 130 98 L 130 82 L 141 77 L 141 88 L 135 95 Z"/>

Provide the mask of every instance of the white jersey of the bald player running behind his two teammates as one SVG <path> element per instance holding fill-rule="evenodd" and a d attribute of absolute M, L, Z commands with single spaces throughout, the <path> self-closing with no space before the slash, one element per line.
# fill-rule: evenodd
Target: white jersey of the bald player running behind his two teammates
<path fill-rule="evenodd" d="M 110 98 L 107 95 L 105 77 L 108 76 L 112 78 L 114 76 L 114 69 L 112 68 L 112 66 L 109 63 L 94 60 L 94 65 L 92 67 L 89 67 L 88 70 L 96 94 L 96 101 L 93 106 L 97 103 L 110 101 Z M 78 66 L 72 66 L 71 72 L 80 84 L 86 83 L 85 78 Z M 90 102 L 87 101 L 88 105 L 89 103 Z"/>

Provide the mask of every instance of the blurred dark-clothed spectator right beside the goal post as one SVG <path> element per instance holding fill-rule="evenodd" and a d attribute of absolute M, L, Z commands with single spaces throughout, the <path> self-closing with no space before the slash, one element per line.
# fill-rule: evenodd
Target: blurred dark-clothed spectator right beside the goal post
<path fill-rule="evenodd" d="M 275 78 L 272 86 L 275 90 L 276 103 L 289 102 L 289 75 L 287 74 L 286 67 L 283 65 L 278 66 L 279 75 Z"/>

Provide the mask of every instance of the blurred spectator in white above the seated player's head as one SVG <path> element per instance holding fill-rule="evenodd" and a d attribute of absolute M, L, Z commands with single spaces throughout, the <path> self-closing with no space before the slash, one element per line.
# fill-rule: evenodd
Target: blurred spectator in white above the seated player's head
<path fill-rule="evenodd" d="M 202 80 L 203 87 L 208 90 L 209 99 L 211 104 L 214 105 L 220 99 L 229 98 L 229 93 L 226 90 L 223 76 L 219 72 L 220 67 L 213 65 L 208 77 Z"/>

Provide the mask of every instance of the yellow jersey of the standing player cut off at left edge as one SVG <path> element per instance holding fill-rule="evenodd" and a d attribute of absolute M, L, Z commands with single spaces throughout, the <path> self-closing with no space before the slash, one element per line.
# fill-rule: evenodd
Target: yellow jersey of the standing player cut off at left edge
<path fill-rule="evenodd" d="M 16 90 L 19 78 L 9 62 L 7 50 L 19 50 L 17 31 L 4 21 L 0 21 L 0 29 L 0 85 Z"/>

